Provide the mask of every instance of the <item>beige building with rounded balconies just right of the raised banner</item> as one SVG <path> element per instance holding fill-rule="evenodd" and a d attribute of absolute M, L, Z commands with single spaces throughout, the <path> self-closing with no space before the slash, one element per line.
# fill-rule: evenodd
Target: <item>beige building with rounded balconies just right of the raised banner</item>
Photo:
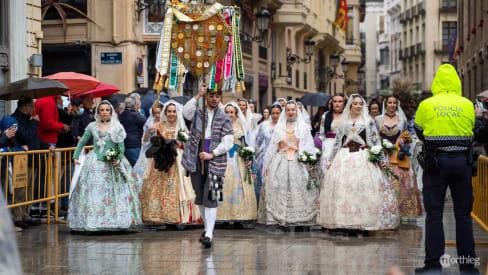
<path fill-rule="evenodd" d="M 272 92 L 278 97 L 298 99 L 307 93 L 344 92 L 344 79 L 332 78 L 327 73 L 330 56 L 344 55 L 345 33 L 333 24 L 336 17 L 335 0 L 283 0 L 273 17 L 272 32 Z M 331 12 L 333 11 L 333 12 Z M 307 60 L 305 42 L 315 42 L 313 55 Z M 291 56 L 298 58 L 291 62 Z M 297 60 L 301 61 L 298 62 Z M 303 62 L 305 61 L 305 62 Z M 341 67 L 336 69 L 343 75 Z"/>

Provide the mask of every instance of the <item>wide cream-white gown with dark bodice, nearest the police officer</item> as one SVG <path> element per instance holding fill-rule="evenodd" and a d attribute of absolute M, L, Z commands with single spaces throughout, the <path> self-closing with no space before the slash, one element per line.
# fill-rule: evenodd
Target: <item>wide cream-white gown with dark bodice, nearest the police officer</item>
<path fill-rule="evenodd" d="M 393 187 L 369 161 L 365 147 L 379 144 L 373 120 L 353 123 L 348 119 L 345 129 L 337 131 L 329 157 L 333 161 L 320 193 L 318 223 L 328 229 L 396 228 L 400 216 Z"/>

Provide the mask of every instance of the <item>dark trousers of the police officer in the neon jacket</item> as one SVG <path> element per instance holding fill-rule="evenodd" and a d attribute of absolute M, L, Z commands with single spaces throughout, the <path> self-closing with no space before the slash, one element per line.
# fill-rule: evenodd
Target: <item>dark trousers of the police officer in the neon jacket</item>
<path fill-rule="evenodd" d="M 474 251 L 473 187 L 471 165 L 466 153 L 440 153 L 438 168 L 427 168 L 423 174 L 425 219 L 425 264 L 440 266 L 439 258 L 444 254 L 444 229 L 442 214 L 447 187 L 451 190 L 456 219 L 456 247 L 458 257 L 476 258 Z M 455 255 L 450 255 L 455 256 Z M 460 264 L 460 268 L 473 265 Z"/>

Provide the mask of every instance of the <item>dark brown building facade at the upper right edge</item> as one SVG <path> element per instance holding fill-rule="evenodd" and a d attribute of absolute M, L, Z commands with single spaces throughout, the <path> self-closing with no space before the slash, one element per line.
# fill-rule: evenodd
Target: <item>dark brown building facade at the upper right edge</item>
<path fill-rule="evenodd" d="M 474 99 L 488 90 L 488 3 L 459 0 L 457 5 L 458 72 L 464 96 Z"/>

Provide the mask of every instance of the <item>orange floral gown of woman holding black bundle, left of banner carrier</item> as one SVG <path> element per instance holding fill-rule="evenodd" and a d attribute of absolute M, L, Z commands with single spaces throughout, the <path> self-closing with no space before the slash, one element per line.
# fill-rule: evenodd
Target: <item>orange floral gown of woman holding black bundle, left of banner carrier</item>
<path fill-rule="evenodd" d="M 157 134 L 165 140 L 176 139 L 176 128 L 166 128 L 166 122 L 158 126 Z M 198 223 L 199 210 L 193 204 L 195 192 L 190 178 L 181 165 L 183 150 L 177 149 L 177 160 L 169 172 L 153 167 L 150 158 L 144 172 L 144 184 L 140 193 L 142 220 L 151 223 L 190 224 Z"/>

